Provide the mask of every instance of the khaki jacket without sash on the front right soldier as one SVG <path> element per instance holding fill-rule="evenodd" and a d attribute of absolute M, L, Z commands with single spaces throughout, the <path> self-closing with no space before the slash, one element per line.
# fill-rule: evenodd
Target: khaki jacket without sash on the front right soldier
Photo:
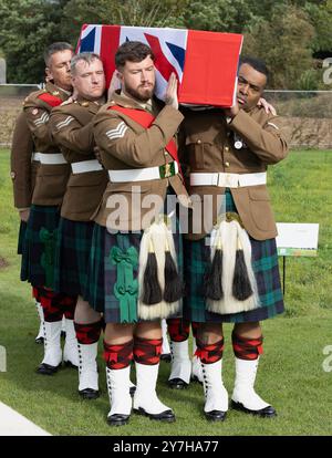
<path fill-rule="evenodd" d="M 239 149 L 235 147 L 237 139 L 242 143 Z M 249 113 L 240 110 L 229 124 L 220 110 L 188 111 L 183 124 L 181 145 L 181 156 L 190 173 L 261 173 L 288 154 L 278 116 L 267 114 L 260 107 L 255 107 Z M 189 191 L 201 199 L 205 195 L 214 196 L 211 220 L 216 223 L 216 196 L 225 194 L 225 188 L 189 186 Z M 253 239 L 267 240 L 277 236 L 266 185 L 231 188 L 231 195 L 242 223 Z M 200 233 L 189 233 L 189 238 L 200 239 L 210 230 L 211 228 Z"/>

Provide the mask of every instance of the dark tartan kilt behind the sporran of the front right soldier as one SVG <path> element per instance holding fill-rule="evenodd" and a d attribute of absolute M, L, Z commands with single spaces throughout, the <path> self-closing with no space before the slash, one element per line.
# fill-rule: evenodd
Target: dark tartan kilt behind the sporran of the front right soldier
<path fill-rule="evenodd" d="M 226 192 L 226 211 L 237 211 L 230 191 Z M 196 322 L 245 323 L 272 318 L 284 311 L 280 285 L 276 239 L 255 240 L 251 237 L 252 269 L 257 280 L 261 306 L 248 312 L 217 314 L 206 310 L 204 279 L 210 264 L 210 247 L 206 238 L 184 240 L 186 295 L 184 318 Z"/>

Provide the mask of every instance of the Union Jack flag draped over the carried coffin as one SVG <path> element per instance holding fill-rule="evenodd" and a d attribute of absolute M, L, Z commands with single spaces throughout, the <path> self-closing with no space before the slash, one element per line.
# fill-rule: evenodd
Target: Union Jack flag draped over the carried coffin
<path fill-rule="evenodd" d="M 115 71 L 114 56 L 125 41 L 141 41 L 155 54 L 156 90 L 163 100 L 170 73 L 179 82 L 180 103 L 229 107 L 236 96 L 242 35 L 184 29 L 84 24 L 77 52 L 100 54 L 107 85 Z"/>

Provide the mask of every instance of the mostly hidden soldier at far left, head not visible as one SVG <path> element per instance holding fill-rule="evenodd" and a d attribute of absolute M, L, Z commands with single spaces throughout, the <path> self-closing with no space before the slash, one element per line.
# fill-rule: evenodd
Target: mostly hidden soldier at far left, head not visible
<path fill-rule="evenodd" d="M 34 154 L 34 145 L 31 132 L 27 124 L 24 112 L 17 118 L 12 143 L 11 143 L 11 179 L 13 185 L 14 206 L 20 215 L 20 231 L 18 254 L 22 254 L 23 240 L 27 231 L 31 198 L 35 185 L 35 176 L 39 166 L 38 156 Z M 35 293 L 33 296 L 35 298 Z M 35 298 L 35 308 L 40 318 L 39 332 L 35 337 L 37 343 L 43 343 L 43 309 L 40 301 Z"/>

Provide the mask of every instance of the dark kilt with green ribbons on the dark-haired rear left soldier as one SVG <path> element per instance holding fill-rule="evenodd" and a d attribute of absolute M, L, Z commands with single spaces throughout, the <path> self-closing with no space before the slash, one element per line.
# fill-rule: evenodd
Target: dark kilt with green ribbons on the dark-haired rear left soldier
<path fill-rule="evenodd" d="M 22 247 L 21 280 L 33 287 L 54 285 L 54 254 L 59 207 L 32 205 Z"/>

